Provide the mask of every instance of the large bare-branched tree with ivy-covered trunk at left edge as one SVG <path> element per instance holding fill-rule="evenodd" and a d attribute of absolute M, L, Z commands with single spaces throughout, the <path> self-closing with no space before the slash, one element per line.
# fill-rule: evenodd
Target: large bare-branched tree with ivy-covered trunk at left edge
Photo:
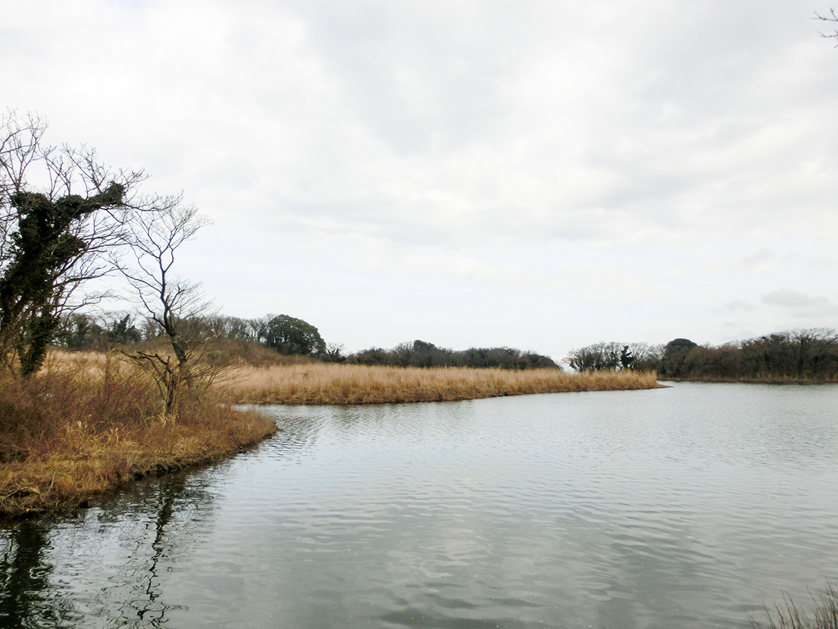
<path fill-rule="evenodd" d="M 0 364 L 23 376 L 39 371 L 61 314 L 101 299 L 80 288 L 112 270 L 146 178 L 91 148 L 45 144 L 46 128 L 31 113 L 0 117 Z"/>

